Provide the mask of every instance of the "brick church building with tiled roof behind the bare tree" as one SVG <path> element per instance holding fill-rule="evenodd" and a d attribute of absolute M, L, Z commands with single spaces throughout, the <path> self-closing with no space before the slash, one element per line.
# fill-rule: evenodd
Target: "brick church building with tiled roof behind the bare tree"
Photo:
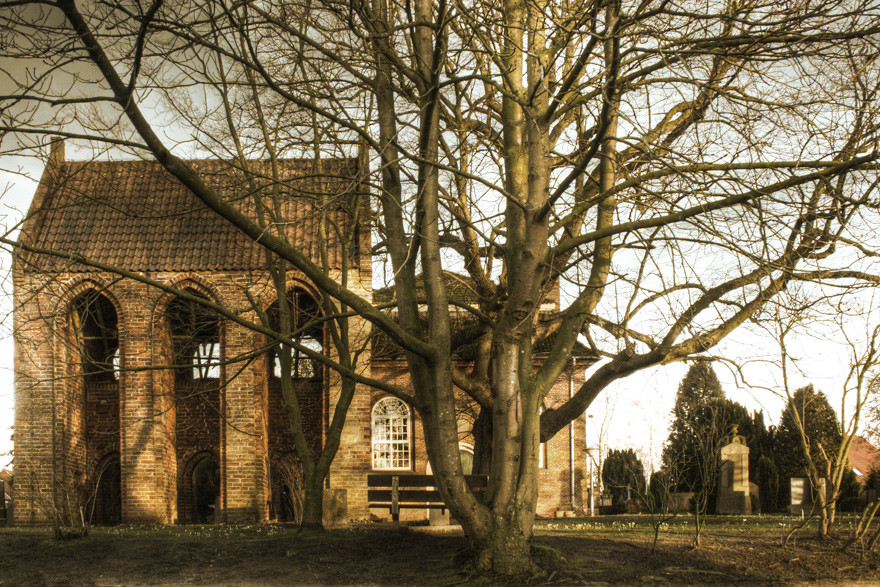
<path fill-rule="evenodd" d="M 256 213 L 253 198 L 239 194 L 251 193 L 248 182 L 259 173 L 245 179 L 228 163 L 191 164 L 234 205 Z M 267 164 L 254 166 L 268 175 Z M 349 289 L 379 299 L 361 167 L 356 159 L 281 161 L 288 193 L 276 201 L 291 243 Z M 97 524 L 290 520 L 296 459 L 271 345 L 194 301 L 206 298 L 254 322 L 257 309 L 271 315 L 277 301 L 260 247 L 157 163 L 66 161 L 60 142 L 21 239 L 72 254 L 20 249 L 14 259 L 15 524 L 49 524 L 71 502 L 85 504 Z M 288 282 L 294 314 L 317 312 L 308 280 L 291 272 Z M 548 304 L 558 307 L 558 299 Z M 371 341 L 361 360 L 366 374 L 406 385 L 399 350 L 367 336 L 362 319 L 353 329 Z M 318 327 L 300 341 L 332 353 L 325 338 Z M 293 358 L 307 439 L 318 450 L 337 378 L 305 355 Z M 563 374 L 547 406 L 582 383 L 586 364 Z M 466 464 L 473 450 L 467 412 Z M 582 416 L 542 448 L 541 515 L 586 503 L 584 426 Z M 329 498 L 344 504 L 330 521 L 387 516 L 366 499 L 367 475 L 387 470 L 429 471 L 421 426 L 404 402 L 361 386 L 326 482 Z"/>

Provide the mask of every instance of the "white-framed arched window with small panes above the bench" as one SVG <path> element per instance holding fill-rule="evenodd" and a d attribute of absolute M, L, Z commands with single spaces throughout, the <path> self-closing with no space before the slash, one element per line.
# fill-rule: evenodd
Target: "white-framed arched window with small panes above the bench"
<path fill-rule="evenodd" d="M 373 469 L 404 470 L 412 467 L 409 406 L 396 397 L 386 397 L 373 406 Z"/>

